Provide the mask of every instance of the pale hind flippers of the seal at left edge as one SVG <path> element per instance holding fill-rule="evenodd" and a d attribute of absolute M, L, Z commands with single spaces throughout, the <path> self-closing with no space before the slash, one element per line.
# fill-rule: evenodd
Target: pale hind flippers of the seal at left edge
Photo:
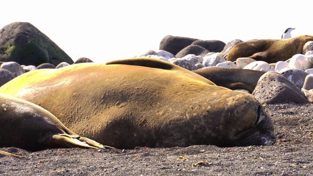
<path fill-rule="evenodd" d="M 52 136 L 52 140 L 54 147 L 60 148 L 103 148 L 103 145 L 97 143 L 96 141 L 79 135 L 55 134 Z"/>

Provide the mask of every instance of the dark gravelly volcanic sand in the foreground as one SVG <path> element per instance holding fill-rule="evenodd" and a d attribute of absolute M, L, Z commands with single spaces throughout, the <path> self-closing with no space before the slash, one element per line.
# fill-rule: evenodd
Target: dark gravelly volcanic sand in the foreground
<path fill-rule="evenodd" d="M 0 150 L 0 175 L 313 175 L 313 104 L 276 104 L 265 107 L 277 142 L 273 146 L 219 148 L 190 146 L 136 149 L 47 149 L 29 152 Z M 194 166 L 196 163 L 198 165 Z"/>

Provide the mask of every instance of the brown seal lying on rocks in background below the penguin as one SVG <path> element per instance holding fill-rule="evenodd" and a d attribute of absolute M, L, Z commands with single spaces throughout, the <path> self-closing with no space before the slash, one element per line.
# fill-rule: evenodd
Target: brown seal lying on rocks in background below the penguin
<path fill-rule="evenodd" d="M 251 40 L 236 44 L 228 53 L 227 61 L 248 57 L 257 61 L 276 63 L 286 61 L 295 54 L 302 54 L 303 45 L 313 41 L 313 36 L 303 35 L 290 39 Z"/>

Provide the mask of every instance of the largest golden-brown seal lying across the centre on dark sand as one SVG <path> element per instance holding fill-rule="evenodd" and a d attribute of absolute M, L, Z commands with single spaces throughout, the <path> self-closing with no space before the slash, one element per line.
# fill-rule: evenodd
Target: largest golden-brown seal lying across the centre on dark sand
<path fill-rule="evenodd" d="M 119 149 L 271 145 L 271 119 L 250 94 L 156 59 L 27 72 L 0 92 L 33 102 L 71 131 Z"/>

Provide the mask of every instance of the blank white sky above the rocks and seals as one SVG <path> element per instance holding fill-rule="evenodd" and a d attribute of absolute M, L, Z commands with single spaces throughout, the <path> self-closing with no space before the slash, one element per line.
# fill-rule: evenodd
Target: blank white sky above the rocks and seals
<path fill-rule="evenodd" d="M 166 35 L 200 40 L 313 35 L 312 0 L 5 0 L 0 28 L 30 22 L 73 61 L 127 59 L 157 51 Z M 285 3 L 285 4 L 282 4 Z"/>

